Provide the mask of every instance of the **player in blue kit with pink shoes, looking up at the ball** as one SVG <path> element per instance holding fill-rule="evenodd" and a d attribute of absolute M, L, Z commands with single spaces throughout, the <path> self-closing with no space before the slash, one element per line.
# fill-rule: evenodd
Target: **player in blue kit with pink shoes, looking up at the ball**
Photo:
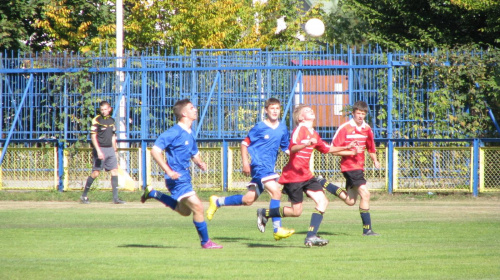
<path fill-rule="evenodd" d="M 193 223 L 200 237 L 201 247 L 221 249 L 221 245 L 211 241 L 208 237 L 203 204 L 191 185 L 190 161 L 193 161 L 201 170 L 207 169 L 206 163 L 200 157 L 191 130 L 193 121 L 198 118 L 198 110 L 189 99 L 183 99 L 175 103 L 174 114 L 179 122 L 163 132 L 151 149 L 151 156 L 165 171 L 165 183 L 171 195 L 148 186 L 144 190 L 141 202 L 144 203 L 147 199 L 154 198 L 182 216 L 189 216 L 193 213 Z M 165 151 L 167 161 L 162 151 Z"/>

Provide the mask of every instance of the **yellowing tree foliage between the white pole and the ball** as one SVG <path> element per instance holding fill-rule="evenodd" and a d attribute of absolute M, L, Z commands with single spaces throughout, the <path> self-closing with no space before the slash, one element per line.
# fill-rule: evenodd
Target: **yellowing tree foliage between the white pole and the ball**
<path fill-rule="evenodd" d="M 134 2 L 126 19 L 125 46 L 193 48 L 296 49 L 316 41 L 300 41 L 304 21 L 297 0 L 255 3 L 247 0 L 159 0 Z M 312 14 L 319 15 L 316 9 Z M 287 29 L 276 34 L 278 18 L 285 16 Z M 320 15 L 319 15 L 320 16 Z"/>

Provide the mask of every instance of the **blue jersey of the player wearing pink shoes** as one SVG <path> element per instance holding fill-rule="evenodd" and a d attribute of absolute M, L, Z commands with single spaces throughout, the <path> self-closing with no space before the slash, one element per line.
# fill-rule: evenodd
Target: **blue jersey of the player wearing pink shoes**
<path fill-rule="evenodd" d="M 167 164 L 173 171 L 181 174 L 179 181 L 190 180 L 191 158 L 199 152 L 191 130 L 188 131 L 176 124 L 160 134 L 154 146 L 165 151 Z M 170 177 L 165 174 L 165 179 Z"/>

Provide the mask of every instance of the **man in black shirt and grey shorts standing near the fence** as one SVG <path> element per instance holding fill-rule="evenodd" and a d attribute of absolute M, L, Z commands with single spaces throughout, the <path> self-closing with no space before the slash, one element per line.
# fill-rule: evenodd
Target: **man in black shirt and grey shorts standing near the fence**
<path fill-rule="evenodd" d="M 111 188 L 113 189 L 113 203 L 124 204 L 125 201 L 118 198 L 118 161 L 116 159 L 116 126 L 111 117 L 111 105 L 107 101 L 99 104 L 100 115 L 92 120 L 90 139 L 92 140 L 93 165 L 92 173 L 87 178 L 85 189 L 80 197 L 84 204 L 89 204 L 88 192 L 95 178 L 101 170 L 111 172 Z"/>

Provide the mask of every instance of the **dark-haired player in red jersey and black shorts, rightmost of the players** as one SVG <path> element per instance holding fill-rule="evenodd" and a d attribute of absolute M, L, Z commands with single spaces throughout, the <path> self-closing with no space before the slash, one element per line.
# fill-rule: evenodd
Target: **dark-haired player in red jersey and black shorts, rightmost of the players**
<path fill-rule="evenodd" d="M 363 235 L 376 236 L 379 235 L 372 230 L 370 217 L 370 191 L 366 187 L 366 179 L 364 176 L 365 165 L 365 148 L 368 150 L 375 168 L 380 168 L 380 162 L 377 160 L 377 151 L 375 149 L 375 141 L 371 127 L 365 122 L 365 117 L 368 114 L 368 104 L 364 101 L 354 103 L 352 108 L 353 118 L 339 127 L 333 136 L 332 144 L 335 147 L 347 145 L 353 141 L 357 141 L 358 154 L 354 156 L 343 156 L 340 161 L 340 169 L 346 179 L 347 192 L 325 179 L 321 178 L 320 182 L 329 192 L 338 196 L 347 205 L 353 206 L 356 204 L 358 195 L 361 197 L 359 202 L 359 213 L 363 223 Z"/>

